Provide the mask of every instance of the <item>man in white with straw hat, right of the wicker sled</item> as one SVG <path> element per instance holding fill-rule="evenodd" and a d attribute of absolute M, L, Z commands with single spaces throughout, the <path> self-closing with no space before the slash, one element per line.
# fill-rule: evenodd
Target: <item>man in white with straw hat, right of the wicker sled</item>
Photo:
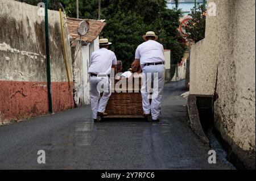
<path fill-rule="evenodd" d="M 159 121 L 161 99 L 164 87 L 164 48 L 156 40 L 155 32 L 149 31 L 143 36 L 144 43 L 138 46 L 135 53 L 135 64 L 140 62 L 144 77 L 142 79 L 142 105 L 144 116 L 152 116 L 152 121 Z M 143 81 L 144 80 L 144 81 Z M 148 91 L 154 82 L 150 104 Z M 156 88 L 155 88 L 156 87 Z"/>

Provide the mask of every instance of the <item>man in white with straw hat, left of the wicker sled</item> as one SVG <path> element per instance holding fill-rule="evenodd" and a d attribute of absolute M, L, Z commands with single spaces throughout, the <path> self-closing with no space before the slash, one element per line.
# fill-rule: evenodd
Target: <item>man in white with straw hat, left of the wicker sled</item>
<path fill-rule="evenodd" d="M 108 103 L 110 92 L 110 71 L 117 70 L 117 57 L 115 53 L 108 50 L 112 44 L 108 39 L 100 39 L 100 49 L 92 53 L 90 57 L 90 105 L 93 112 L 93 120 L 97 121 L 98 116 L 106 116 L 106 104 Z M 104 85 L 102 97 L 100 98 L 100 88 Z M 100 100 L 99 100 L 100 98 Z"/>

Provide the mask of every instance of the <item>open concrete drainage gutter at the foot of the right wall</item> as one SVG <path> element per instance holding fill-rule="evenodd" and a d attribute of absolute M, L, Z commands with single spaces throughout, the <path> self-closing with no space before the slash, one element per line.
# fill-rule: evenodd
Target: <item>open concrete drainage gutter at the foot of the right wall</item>
<path fill-rule="evenodd" d="M 236 167 L 229 162 L 228 153 L 226 153 L 214 132 L 213 96 L 189 95 L 187 116 L 189 125 L 204 144 L 208 145 L 210 149 L 216 151 L 217 158 L 222 163 L 236 169 Z"/>

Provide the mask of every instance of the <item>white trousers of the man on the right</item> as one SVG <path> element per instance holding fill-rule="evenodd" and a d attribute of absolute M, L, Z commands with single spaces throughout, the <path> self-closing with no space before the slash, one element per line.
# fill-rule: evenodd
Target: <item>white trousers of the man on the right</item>
<path fill-rule="evenodd" d="M 161 100 L 164 87 L 164 72 L 163 64 L 149 65 L 142 68 L 142 106 L 143 112 L 151 113 L 152 119 L 158 119 L 160 116 Z M 152 85 L 152 86 L 151 86 Z M 151 87 L 153 89 L 151 90 Z M 150 93 L 151 104 L 150 104 Z"/>

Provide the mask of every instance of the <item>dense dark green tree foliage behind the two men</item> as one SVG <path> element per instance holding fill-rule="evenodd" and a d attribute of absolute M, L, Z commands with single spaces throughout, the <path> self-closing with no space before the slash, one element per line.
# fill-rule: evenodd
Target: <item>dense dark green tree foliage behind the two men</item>
<path fill-rule="evenodd" d="M 68 16 L 76 17 L 76 2 L 62 0 Z M 98 0 L 79 1 L 80 18 L 98 18 Z M 107 26 L 101 33 L 113 44 L 110 47 L 123 62 L 123 69 L 130 68 L 135 50 L 143 43 L 142 35 L 154 31 L 165 49 L 171 49 L 172 61 L 180 62 L 186 45 L 179 37 L 177 27 L 181 11 L 167 9 L 165 0 L 101 0 L 101 19 Z"/>

